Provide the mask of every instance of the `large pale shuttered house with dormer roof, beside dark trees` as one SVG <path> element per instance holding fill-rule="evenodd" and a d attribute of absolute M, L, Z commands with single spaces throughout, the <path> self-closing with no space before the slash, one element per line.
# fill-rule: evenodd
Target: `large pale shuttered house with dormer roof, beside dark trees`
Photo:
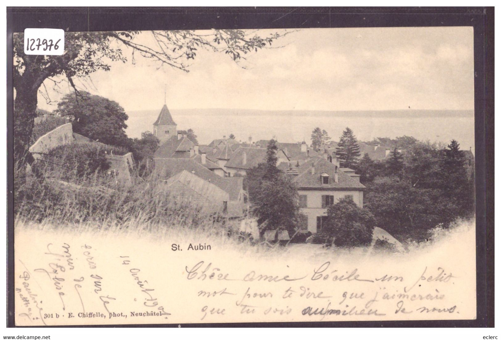
<path fill-rule="evenodd" d="M 299 206 L 306 216 L 302 232 L 322 231 L 327 208 L 342 198 L 349 198 L 359 207 L 364 205 L 364 185 L 351 169 L 341 168 L 324 157 L 315 157 L 297 166 L 290 162 L 281 168 L 293 177 L 298 187 Z"/>

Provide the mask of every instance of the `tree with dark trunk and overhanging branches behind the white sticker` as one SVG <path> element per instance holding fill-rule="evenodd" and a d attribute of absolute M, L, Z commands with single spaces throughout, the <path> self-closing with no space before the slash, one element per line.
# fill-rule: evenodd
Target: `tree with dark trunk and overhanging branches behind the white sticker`
<path fill-rule="evenodd" d="M 147 39 L 138 39 L 149 35 Z M 109 71 L 114 61 L 134 63 L 138 55 L 161 65 L 188 71 L 189 61 L 198 49 L 223 52 L 234 61 L 244 55 L 270 46 L 281 37 L 275 33 L 260 36 L 253 31 L 121 31 L 66 32 L 65 51 L 61 56 L 28 55 L 24 52 L 24 34 L 14 35 L 14 152 L 17 160 L 32 162 L 28 152 L 34 119 L 37 116 L 37 94 L 45 86 L 68 80 L 77 91 L 74 80 L 97 71 Z M 145 43 L 143 43 L 143 41 Z M 124 49 L 132 51 L 128 58 Z"/>

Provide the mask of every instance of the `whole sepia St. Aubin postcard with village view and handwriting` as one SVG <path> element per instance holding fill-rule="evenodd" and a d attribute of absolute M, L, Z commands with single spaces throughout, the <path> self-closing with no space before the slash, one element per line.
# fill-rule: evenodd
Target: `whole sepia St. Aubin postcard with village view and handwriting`
<path fill-rule="evenodd" d="M 38 40 L 16 325 L 475 319 L 472 27 Z"/>

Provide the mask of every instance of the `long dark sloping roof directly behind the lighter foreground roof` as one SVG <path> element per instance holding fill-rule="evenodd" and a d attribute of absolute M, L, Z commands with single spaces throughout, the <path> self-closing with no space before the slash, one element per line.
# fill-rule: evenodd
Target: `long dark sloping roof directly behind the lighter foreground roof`
<path fill-rule="evenodd" d="M 229 194 L 229 200 L 238 200 L 243 188 L 243 178 L 220 177 L 193 158 L 159 158 L 155 159 L 155 171 L 161 179 L 168 179 L 183 170 L 193 173 L 199 178 L 212 183 Z"/>

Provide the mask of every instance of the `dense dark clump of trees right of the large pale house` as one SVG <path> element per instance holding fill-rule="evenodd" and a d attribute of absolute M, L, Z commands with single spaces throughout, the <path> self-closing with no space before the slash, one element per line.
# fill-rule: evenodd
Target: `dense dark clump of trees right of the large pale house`
<path fill-rule="evenodd" d="M 474 213 L 474 176 L 468 175 L 456 141 L 446 149 L 418 142 L 403 155 L 393 151 L 383 166 L 366 157 L 359 164 L 375 171 L 363 184 L 364 206 L 374 215 L 376 226 L 402 241 L 422 241 L 437 225 L 447 227 Z"/>

